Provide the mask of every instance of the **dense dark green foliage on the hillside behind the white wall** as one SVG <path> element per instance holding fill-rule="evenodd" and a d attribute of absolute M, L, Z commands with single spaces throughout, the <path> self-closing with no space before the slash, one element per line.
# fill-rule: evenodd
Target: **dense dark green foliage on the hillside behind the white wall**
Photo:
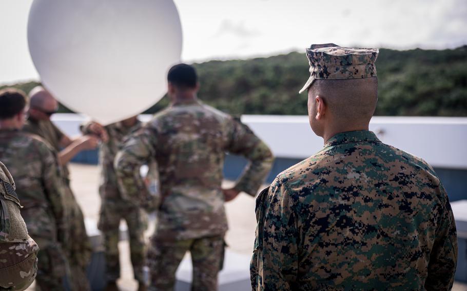
<path fill-rule="evenodd" d="M 209 105 L 231 114 L 306 114 L 304 53 L 194 64 Z M 455 50 L 381 49 L 376 115 L 467 116 L 467 46 Z M 28 92 L 35 84 L 18 84 Z M 154 113 L 168 98 L 151 107 Z"/>

